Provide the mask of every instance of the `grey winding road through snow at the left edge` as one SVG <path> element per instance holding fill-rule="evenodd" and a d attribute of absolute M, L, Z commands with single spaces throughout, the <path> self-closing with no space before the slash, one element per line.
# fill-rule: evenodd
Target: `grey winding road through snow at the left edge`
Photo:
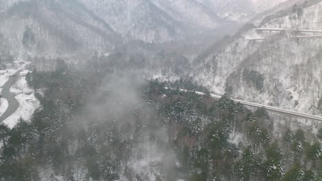
<path fill-rule="evenodd" d="M 19 108 L 19 101 L 17 101 L 17 99 L 15 98 L 16 95 L 14 93 L 10 93 L 10 88 L 15 82 L 17 82 L 19 78 L 19 73 L 21 71 L 22 70 L 17 71 L 16 73 L 14 73 L 14 75 L 11 75 L 9 77 L 9 80 L 2 87 L 2 97 L 8 100 L 9 105 L 6 112 L 4 112 L 1 115 L 0 122 L 5 121 L 8 117 L 11 116 L 11 114 L 16 112 L 16 110 Z"/>

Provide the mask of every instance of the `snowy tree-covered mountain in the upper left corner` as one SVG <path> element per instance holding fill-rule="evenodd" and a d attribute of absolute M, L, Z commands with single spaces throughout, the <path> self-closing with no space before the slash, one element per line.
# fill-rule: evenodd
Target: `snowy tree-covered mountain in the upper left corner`
<path fill-rule="evenodd" d="M 112 49 L 118 40 L 105 21 L 77 1 L 1 1 L 3 52 L 26 58 L 81 58 Z"/>

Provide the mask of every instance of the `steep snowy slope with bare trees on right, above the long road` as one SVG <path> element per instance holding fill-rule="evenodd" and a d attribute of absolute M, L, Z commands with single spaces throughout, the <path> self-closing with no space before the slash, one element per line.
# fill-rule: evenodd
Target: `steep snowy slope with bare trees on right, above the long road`
<path fill-rule="evenodd" d="M 263 21 L 255 20 L 253 27 L 319 29 L 322 3 L 297 1 L 297 4 L 297 10 L 292 10 L 294 4 L 288 3 L 283 11 L 278 8 L 266 18 L 258 17 Z M 222 47 L 209 49 L 213 53 L 196 60 L 199 67 L 193 73 L 196 79 L 217 93 L 226 91 L 239 99 L 321 114 L 321 39 L 287 38 L 310 34 L 259 33 L 253 27 L 224 40 Z M 248 40 L 265 36 L 280 38 Z"/>

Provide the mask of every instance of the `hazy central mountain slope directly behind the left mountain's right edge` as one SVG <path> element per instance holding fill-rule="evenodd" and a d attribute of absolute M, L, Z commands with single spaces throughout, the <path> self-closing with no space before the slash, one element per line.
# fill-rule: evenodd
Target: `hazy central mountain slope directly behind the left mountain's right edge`
<path fill-rule="evenodd" d="M 160 10 L 149 0 L 115 1 L 81 0 L 102 17 L 116 32 L 147 42 L 164 42 L 180 38 L 184 25 Z"/>

